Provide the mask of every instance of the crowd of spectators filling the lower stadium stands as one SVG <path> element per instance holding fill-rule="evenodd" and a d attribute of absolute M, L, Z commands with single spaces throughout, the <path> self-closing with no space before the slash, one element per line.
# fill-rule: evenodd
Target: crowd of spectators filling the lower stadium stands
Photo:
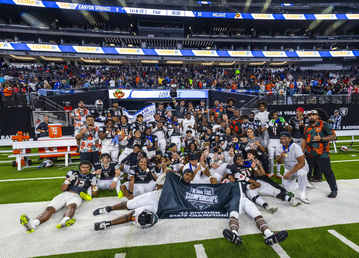
<path fill-rule="evenodd" d="M 109 89 L 179 89 L 226 88 L 247 92 L 281 92 L 294 94 L 352 94 L 358 92 L 358 67 L 340 71 L 215 68 L 200 66 L 111 66 L 83 67 L 50 64 L 41 67 L 8 67 L 0 69 L 0 94 L 73 89 L 91 91 Z M 37 76 L 35 76 L 35 74 Z M 297 74 L 294 78 L 293 75 Z"/>

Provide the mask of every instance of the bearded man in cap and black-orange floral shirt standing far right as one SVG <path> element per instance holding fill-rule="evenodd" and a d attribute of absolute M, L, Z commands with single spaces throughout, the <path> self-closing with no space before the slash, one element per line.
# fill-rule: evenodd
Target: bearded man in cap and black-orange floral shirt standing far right
<path fill-rule="evenodd" d="M 317 164 L 320 173 L 323 173 L 331 189 L 329 198 L 337 195 L 335 175 L 330 165 L 329 142 L 336 139 L 336 135 L 330 124 L 320 120 L 317 110 L 311 110 L 308 114 L 310 124 L 304 129 L 302 151 L 306 151 L 309 165 L 308 180 L 312 176 L 312 169 Z M 320 182 L 320 176 L 314 173 L 312 182 Z"/>

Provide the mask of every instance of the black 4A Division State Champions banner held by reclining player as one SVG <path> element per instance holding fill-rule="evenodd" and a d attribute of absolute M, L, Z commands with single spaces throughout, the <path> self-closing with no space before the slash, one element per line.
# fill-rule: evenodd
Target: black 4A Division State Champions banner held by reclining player
<path fill-rule="evenodd" d="M 159 218 L 228 218 L 239 212 L 241 187 L 238 183 L 188 184 L 168 172 L 159 198 Z"/>

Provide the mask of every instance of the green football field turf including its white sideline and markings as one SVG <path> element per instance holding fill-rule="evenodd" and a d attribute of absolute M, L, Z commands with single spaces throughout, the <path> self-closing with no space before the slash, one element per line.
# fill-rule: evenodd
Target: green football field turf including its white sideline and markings
<path fill-rule="evenodd" d="M 359 149 L 359 146 L 353 148 Z M 0 153 L 0 161 L 10 160 L 9 154 Z M 32 158 L 33 166 L 41 162 L 37 158 Z M 92 215 L 96 208 L 126 200 L 118 199 L 116 191 L 110 190 L 101 191 L 93 201 L 84 201 L 75 212 L 73 226 L 56 229 L 64 212 L 61 209 L 28 234 L 19 223 L 20 215 L 25 213 L 36 218 L 48 201 L 61 193 L 66 172 L 76 169 L 78 164 L 58 166 L 56 164 L 64 163 L 59 159 L 50 168 L 17 171 L 11 163 L 0 163 L 0 218 L 5 222 L 0 226 L 2 254 L 3 257 L 359 257 L 358 160 L 358 151 L 331 153 L 331 165 L 339 188 L 336 199 L 326 197 L 330 189 L 325 181 L 314 183 L 316 189 L 307 188 L 311 204 L 302 203 L 293 208 L 287 202 L 263 197 L 278 206 L 278 212 L 273 215 L 258 207 L 270 229 L 288 231 L 288 239 L 272 247 L 265 245 L 263 234 L 246 214 L 239 219 L 241 246 L 223 238 L 222 231 L 228 227 L 225 218 L 176 218 L 159 220 L 154 227 L 145 230 L 124 224 L 94 231 L 94 222 L 127 213 L 115 211 L 108 215 Z M 282 174 L 283 171 L 282 166 Z"/>

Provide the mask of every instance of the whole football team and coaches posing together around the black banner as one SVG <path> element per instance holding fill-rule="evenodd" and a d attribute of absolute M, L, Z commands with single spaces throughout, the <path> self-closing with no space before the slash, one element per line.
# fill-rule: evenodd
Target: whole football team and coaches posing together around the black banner
<path fill-rule="evenodd" d="M 258 207 L 271 214 L 278 208 L 262 196 L 276 197 L 292 207 L 302 202 L 310 204 L 306 188 L 314 188 L 311 182 L 320 181 L 312 178 L 313 169 L 315 178 L 325 175 L 331 188 L 328 197 L 336 197 L 336 180 L 329 159 L 329 142 L 336 136 L 331 126 L 320 120 L 320 109 L 304 114 L 299 107 L 296 116 L 287 122 L 278 111 L 267 111 L 265 102 L 258 103 L 257 114 L 240 116 L 233 98 L 225 105 L 215 100 L 212 109 L 204 100 L 196 108 L 191 101 L 172 101 L 176 116 L 159 103 L 154 121 L 148 123 L 141 114 L 130 122 L 117 101 L 108 110 L 103 109 L 101 100 L 96 101 L 94 110 L 85 109 L 84 102 L 79 101 L 71 113 L 80 152 L 79 170 L 67 172 L 61 185 L 64 193 L 53 198 L 35 220 L 21 216 L 27 232 L 33 232 L 65 205 L 64 218 L 56 227 L 73 225 L 75 209 L 82 200 L 90 201 L 92 195 L 97 196 L 104 189 L 116 189 L 118 198 L 125 196 L 128 201 L 98 208 L 93 215 L 117 209 L 132 211 L 115 220 L 96 222 L 95 230 L 130 221 L 142 228 L 153 226 L 158 220 L 160 195 L 171 194 L 162 193 L 168 172 L 178 174 L 178 180 L 186 185 L 238 185 L 238 198 L 231 200 L 230 229 L 223 231 L 225 239 L 238 245 L 242 243 L 238 236 L 239 211 L 255 220 L 267 245 L 286 239 L 286 231 L 269 230 Z M 284 175 L 280 174 L 281 164 Z M 282 185 L 275 183 L 273 176 L 281 178 Z M 236 181 L 239 183 L 231 183 Z M 298 188 L 299 194 L 294 196 L 292 192 Z"/>

